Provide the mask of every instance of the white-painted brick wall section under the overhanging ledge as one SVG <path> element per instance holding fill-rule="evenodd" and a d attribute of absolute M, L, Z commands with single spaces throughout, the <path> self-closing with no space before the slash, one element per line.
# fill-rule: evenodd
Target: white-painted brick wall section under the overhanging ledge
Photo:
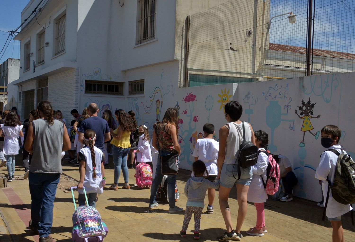
<path fill-rule="evenodd" d="M 48 100 L 54 110 L 60 110 L 69 127 L 72 109 L 78 109 L 78 77 L 76 69 L 60 72 L 48 77 Z M 78 110 L 80 113 L 80 110 Z"/>

